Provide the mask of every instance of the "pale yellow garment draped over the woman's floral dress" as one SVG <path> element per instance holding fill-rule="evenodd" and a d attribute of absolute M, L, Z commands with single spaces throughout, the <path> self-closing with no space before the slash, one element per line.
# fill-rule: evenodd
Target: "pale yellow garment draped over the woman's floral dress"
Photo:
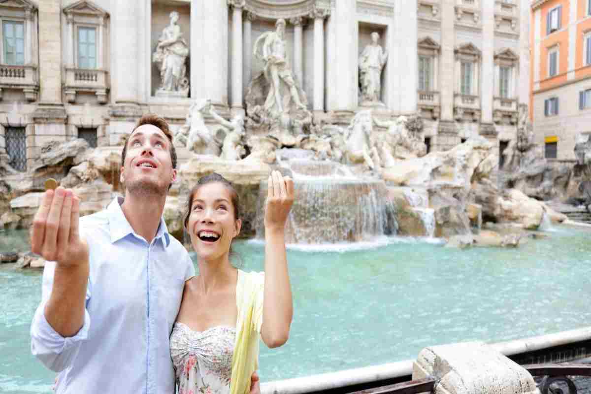
<path fill-rule="evenodd" d="M 238 321 L 232 357 L 230 394 L 248 394 L 251 388 L 251 375 L 258 368 L 264 283 L 264 272 L 238 270 Z"/>

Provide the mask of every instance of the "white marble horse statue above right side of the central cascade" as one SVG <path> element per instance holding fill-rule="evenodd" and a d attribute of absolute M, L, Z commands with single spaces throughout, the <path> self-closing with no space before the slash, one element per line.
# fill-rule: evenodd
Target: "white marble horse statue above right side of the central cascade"
<path fill-rule="evenodd" d="M 374 158 L 379 159 L 371 141 L 373 123 L 371 110 L 363 110 L 351 119 L 345 135 L 346 158 L 352 163 L 365 162 L 370 170 L 377 167 Z"/>

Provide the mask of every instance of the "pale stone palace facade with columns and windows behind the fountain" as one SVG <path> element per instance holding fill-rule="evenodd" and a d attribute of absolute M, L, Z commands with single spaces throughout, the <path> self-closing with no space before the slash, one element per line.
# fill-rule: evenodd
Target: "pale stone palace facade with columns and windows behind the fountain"
<path fill-rule="evenodd" d="M 381 71 L 382 120 L 420 110 L 432 149 L 486 134 L 515 135 L 517 103 L 529 93 L 527 0 L 11 0 L 3 21 L 24 48 L 22 60 L 0 48 L 0 157 L 15 157 L 24 140 L 30 164 L 48 141 L 84 135 L 116 145 L 142 113 L 184 124 L 194 102 L 210 100 L 225 118 L 245 113 L 249 82 L 262 71 L 252 46 L 275 21 L 287 21 L 285 39 L 294 79 L 314 123 L 346 125 L 359 106 L 359 54 L 379 34 L 388 53 Z M 189 47 L 189 97 L 158 95 L 152 54 L 178 13 Z M 3 22 L 4 23 L 4 22 Z M 16 27 L 15 27 L 16 26 Z M 15 30 L 16 31 L 16 30 Z M 20 31 L 20 30 L 19 30 Z M 0 35 L 7 34 L 0 29 Z M 1 42 L 4 42 L 0 40 Z M 38 43 L 38 44 L 37 44 Z M 21 55 L 19 55 L 21 56 Z M 431 85 L 418 89 L 419 56 L 430 56 Z M 472 91 L 462 95 L 462 63 L 473 64 Z M 508 64 L 505 63 L 508 62 Z M 15 64 L 13 64 L 15 63 Z M 511 67 L 509 96 L 501 99 L 499 65 Z M 495 77 L 491 77 L 495 74 Z M 525 93 L 524 93 L 525 92 Z M 213 119 L 206 116 L 207 125 Z M 19 137 L 20 136 L 20 137 Z M 22 144 L 21 144 L 22 145 Z M 13 151 L 11 151 L 13 149 Z"/>

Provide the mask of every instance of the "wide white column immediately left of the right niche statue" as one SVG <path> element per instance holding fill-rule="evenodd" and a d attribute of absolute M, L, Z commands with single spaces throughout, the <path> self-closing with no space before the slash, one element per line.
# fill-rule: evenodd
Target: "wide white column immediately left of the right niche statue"
<path fill-rule="evenodd" d="M 327 110 L 337 114 L 353 112 L 357 107 L 359 37 L 356 15 L 356 0 L 339 0 L 327 25 Z"/>

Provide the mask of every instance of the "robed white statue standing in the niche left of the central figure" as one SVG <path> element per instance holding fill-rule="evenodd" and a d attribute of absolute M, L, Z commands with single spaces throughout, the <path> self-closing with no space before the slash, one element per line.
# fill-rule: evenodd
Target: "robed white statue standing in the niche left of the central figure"
<path fill-rule="evenodd" d="M 164 28 L 152 61 L 160 63 L 161 86 L 157 96 L 189 96 L 189 79 L 186 77 L 185 61 L 189 56 L 189 45 L 183 38 L 178 25 L 178 12 L 170 13 L 170 25 Z"/>

